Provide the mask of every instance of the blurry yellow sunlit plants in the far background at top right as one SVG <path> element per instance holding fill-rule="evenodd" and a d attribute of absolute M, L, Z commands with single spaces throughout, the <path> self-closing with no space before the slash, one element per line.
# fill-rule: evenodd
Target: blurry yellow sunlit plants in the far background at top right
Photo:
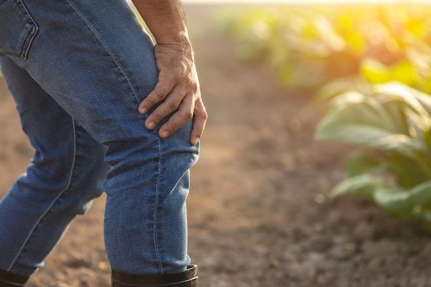
<path fill-rule="evenodd" d="M 277 6 L 222 11 L 240 59 L 264 61 L 288 87 L 349 75 L 431 92 L 427 6 Z"/>

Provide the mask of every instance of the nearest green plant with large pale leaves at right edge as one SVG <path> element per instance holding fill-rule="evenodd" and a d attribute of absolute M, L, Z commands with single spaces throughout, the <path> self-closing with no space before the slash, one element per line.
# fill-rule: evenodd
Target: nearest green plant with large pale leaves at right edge
<path fill-rule="evenodd" d="M 328 111 L 316 138 L 361 147 L 333 197 L 357 193 L 431 229 L 431 97 L 401 83 L 348 83 L 333 83 L 317 98 Z"/>

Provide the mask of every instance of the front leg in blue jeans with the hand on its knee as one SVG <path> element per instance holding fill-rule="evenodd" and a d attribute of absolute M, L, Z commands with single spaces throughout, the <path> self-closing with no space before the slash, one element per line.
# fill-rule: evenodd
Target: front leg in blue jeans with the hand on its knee
<path fill-rule="evenodd" d="M 158 78 L 149 36 L 125 1 L 22 2 L 39 30 L 16 63 L 108 147 L 110 264 L 134 275 L 182 273 L 190 262 L 185 199 L 198 147 L 189 144 L 191 123 L 161 139 L 137 112 Z"/>

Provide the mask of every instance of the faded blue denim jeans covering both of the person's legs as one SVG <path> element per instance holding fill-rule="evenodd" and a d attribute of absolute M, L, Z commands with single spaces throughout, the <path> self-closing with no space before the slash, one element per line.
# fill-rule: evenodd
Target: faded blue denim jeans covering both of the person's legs
<path fill-rule="evenodd" d="M 0 23 L 1 69 L 35 149 L 0 202 L 0 269 L 32 275 L 105 191 L 112 268 L 185 270 L 198 146 L 189 143 L 191 122 L 164 139 L 144 127 L 137 108 L 158 70 L 127 3 L 0 0 Z"/>

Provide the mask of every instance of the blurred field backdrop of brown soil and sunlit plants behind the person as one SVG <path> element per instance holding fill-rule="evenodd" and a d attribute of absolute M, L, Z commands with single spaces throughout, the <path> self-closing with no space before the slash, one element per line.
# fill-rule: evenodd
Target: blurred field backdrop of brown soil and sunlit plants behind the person
<path fill-rule="evenodd" d="M 431 4 L 185 0 L 200 286 L 431 286 Z M 32 156 L 0 83 L 0 193 Z M 109 286 L 104 200 L 29 286 Z"/>

